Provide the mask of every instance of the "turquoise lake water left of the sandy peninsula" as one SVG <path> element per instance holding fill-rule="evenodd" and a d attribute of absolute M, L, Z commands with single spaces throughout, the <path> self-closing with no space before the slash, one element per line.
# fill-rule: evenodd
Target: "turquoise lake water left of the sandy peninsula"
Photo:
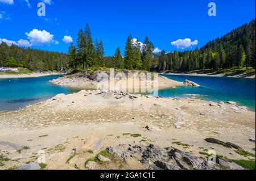
<path fill-rule="evenodd" d="M 28 104 L 52 98 L 56 94 L 79 91 L 50 83 L 60 75 L 37 78 L 0 79 L 0 111 L 22 108 Z"/>

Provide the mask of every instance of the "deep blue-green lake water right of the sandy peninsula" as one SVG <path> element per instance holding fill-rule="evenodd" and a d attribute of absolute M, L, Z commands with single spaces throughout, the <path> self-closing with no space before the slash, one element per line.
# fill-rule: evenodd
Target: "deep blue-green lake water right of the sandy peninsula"
<path fill-rule="evenodd" d="M 207 95 L 200 97 L 206 100 L 232 100 L 255 111 L 255 79 L 229 77 L 199 77 L 191 75 L 164 75 L 175 81 L 185 79 L 198 83 L 201 87 L 176 87 L 159 90 L 159 96 L 185 97 L 183 94 Z"/>

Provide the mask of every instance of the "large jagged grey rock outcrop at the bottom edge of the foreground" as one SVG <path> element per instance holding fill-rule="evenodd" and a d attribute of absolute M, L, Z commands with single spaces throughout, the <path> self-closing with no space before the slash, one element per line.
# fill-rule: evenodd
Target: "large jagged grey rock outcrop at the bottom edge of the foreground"
<path fill-rule="evenodd" d="M 162 149 L 159 146 L 149 145 L 146 148 L 141 146 L 131 146 L 121 144 L 118 146 L 108 146 L 109 153 L 125 159 L 138 159 L 143 165 L 150 170 L 242 170 L 243 168 L 236 163 L 226 159 L 216 158 L 216 163 L 209 161 L 204 157 L 181 151 L 176 148 Z"/>

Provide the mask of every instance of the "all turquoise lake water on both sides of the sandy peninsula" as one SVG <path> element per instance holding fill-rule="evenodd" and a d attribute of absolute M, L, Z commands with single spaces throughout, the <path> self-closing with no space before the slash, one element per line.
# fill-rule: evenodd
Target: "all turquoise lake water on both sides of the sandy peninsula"
<path fill-rule="evenodd" d="M 176 87 L 159 90 L 164 97 L 185 97 L 183 94 L 200 94 L 206 100 L 232 100 L 255 111 L 255 79 L 198 77 L 183 75 L 164 75 L 176 81 L 185 79 L 199 83 L 201 87 Z M 0 111 L 16 110 L 28 104 L 52 98 L 56 94 L 69 94 L 79 91 L 52 85 L 50 80 L 59 75 L 39 78 L 0 79 Z"/>

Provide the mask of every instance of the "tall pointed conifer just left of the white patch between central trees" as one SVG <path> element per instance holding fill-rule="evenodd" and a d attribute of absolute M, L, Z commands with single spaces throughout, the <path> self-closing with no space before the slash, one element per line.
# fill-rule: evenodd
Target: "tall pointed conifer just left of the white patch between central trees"
<path fill-rule="evenodd" d="M 125 69 L 132 70 L 134 62 L 133 44 L 131 43 L 131 34 L 127 37 L 125 47 Z"/>

